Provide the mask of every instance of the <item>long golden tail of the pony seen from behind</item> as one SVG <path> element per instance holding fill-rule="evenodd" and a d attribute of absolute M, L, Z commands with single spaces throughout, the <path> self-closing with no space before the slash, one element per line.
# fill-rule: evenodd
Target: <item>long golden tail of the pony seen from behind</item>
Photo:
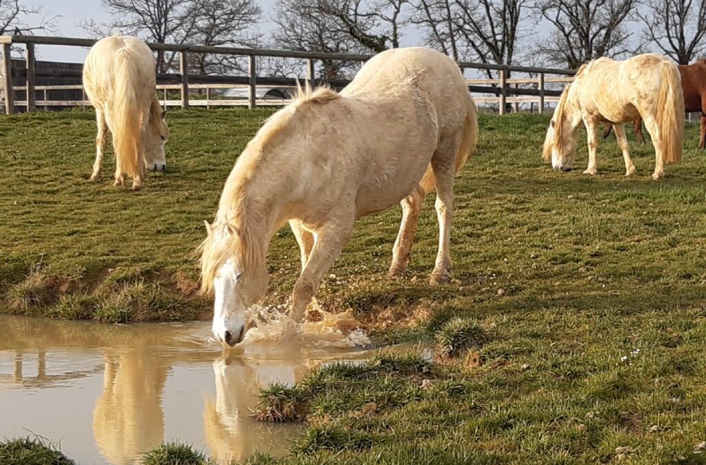
<path fill-rule="evenodd" d="M 135 178 L 143 174 L 142 109 L 136 95 L 137 69 L 129 52 L 114 54 L 115 76 L 112 95 L 112 132 L 115 157 L 121 170 Z"/>

